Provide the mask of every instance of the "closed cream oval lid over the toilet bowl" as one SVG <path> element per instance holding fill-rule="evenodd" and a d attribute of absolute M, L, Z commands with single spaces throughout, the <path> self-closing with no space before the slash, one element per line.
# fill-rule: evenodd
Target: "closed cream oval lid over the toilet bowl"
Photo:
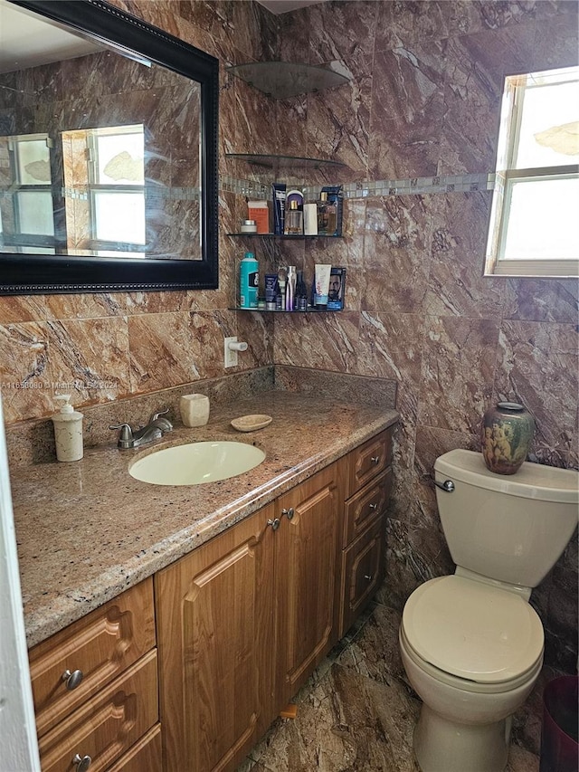
<path fill-rule="evenodd" d="M 543 625 L 522 597 L 464 577 L 439 577 L 414 590 L 403 630 L 426 662 L 479 683 L 510 681 L 543 652 Z"/>

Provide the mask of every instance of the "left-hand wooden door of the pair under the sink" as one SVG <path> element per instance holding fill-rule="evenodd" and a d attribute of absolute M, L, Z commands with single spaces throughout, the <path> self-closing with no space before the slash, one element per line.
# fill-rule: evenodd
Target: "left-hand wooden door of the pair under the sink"
<path fill-rule="evenodd" d="M 235 769 L 273 710 L 270 505 L 156 577 L 167 770 Z"/>

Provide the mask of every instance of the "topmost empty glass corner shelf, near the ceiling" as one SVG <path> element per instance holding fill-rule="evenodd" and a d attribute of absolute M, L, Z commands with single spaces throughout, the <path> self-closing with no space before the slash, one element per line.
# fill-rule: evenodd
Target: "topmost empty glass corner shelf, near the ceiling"
<path fill-rule="evenodd" d="M 248 62 L 226 67 L 225 71 L 276 100 L 315 94 L 348 82 L 339 72 L 300 62 Z"/>

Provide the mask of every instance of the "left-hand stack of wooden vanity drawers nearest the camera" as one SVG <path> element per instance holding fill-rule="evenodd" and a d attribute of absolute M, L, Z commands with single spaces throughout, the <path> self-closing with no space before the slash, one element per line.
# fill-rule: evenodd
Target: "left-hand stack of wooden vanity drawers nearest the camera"
<path fill-rule="evenodd" d="M 134 745 L 143 768 L 161 769 L 152 579 L 39 643 L 29 660 L 43 772 L 124 768 Z"/>

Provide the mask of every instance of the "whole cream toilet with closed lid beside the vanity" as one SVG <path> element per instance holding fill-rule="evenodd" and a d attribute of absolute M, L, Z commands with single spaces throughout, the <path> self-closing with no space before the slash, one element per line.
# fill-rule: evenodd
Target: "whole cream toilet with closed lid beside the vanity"
<path fill-rule="evenodd" d="M 574 533 L 579 474 L 525 462 L 498 475 L 465 450 L 441 455 L 434 472 L 456 570 L 403 609 L 400 651 L 422 700 L 414 752 L 422 772 L 501 772 L 512 714 L 543 664 L 531 589 Z"/>

